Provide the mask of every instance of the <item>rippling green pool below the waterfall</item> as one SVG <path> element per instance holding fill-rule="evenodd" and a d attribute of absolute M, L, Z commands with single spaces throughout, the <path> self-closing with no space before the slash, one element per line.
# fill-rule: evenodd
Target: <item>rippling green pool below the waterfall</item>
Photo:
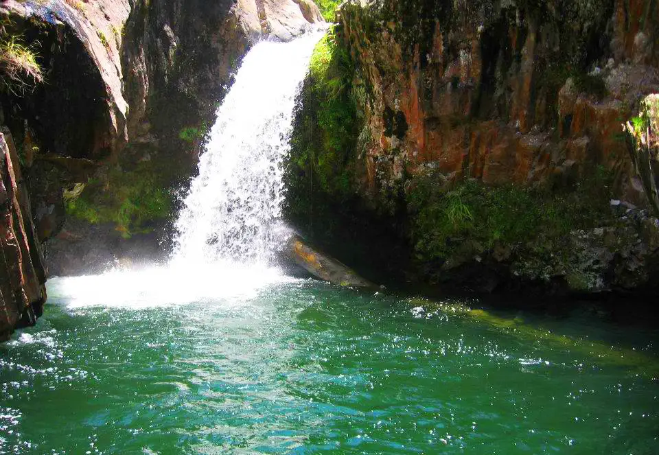
<path fill-rule="evenodd" d="M 0 454 L 659 453 L 651 331 L 312 280 L 139 305 L 79 286 L 51 281 L 0 345 Z"/>

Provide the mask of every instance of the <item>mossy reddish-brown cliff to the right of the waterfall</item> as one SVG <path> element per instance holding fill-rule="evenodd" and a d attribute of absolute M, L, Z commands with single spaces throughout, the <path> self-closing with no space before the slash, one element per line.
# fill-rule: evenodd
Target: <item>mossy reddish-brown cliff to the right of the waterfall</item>
<path fill-rule="evenodd" d="M 471 290 L 653 288 L 656 152 L 639 170 L 629 131 L 659 92 L 655 1 L 352 0 L 337 19 L 294 135 L 303 231 L 332 251 L 321 219 L 343 213 L 390 231 L 407 279 Z"/>

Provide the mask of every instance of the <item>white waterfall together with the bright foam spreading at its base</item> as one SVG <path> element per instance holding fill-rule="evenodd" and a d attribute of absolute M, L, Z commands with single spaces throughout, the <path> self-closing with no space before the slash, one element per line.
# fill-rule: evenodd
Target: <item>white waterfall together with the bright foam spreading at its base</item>
<path fill-rule="evenodd" d="M 321 36 L 264 41 L 245 56 L 176 221 L 169 264 L 50 280 L 51 300 L 132 309 L 199 301 L 240 305 L 268 285 L 292 280 L 268 257 L 286 235 L 282 162 L 295 97 Z"/>

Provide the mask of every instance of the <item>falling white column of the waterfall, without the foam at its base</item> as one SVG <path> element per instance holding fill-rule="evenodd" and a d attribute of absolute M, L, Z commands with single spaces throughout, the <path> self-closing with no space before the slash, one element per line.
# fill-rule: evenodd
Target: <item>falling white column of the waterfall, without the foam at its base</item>
<path fill-rule="evenodd" d="M 282 162 L 295 97 L 321 36 L 262 41 L 245 56 L 176 221 L 174 262 L 264 264 L 281 242 Z"/>

